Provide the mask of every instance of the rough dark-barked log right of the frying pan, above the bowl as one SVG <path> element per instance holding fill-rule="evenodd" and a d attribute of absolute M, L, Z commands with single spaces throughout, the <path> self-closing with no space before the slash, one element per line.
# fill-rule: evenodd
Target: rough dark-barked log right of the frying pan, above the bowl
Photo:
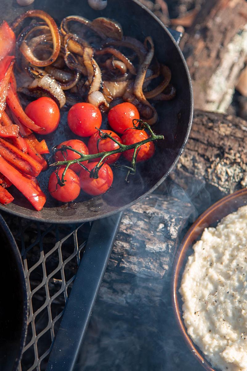
<path fill-rule="evenodd" d="M 196 110 L 189 140 L 172 180 L 187 189 L 195 179 L 232 193 L 247 187 L 247 121 Z"/>

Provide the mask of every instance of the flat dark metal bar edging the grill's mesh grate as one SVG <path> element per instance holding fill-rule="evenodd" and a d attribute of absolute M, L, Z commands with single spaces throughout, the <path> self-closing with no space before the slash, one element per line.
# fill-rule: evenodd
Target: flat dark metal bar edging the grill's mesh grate
<path fill-rule="evenodd" d="M 118 213 L 92 226 L 46 371 L 74 370 L 121 219 Z"/>

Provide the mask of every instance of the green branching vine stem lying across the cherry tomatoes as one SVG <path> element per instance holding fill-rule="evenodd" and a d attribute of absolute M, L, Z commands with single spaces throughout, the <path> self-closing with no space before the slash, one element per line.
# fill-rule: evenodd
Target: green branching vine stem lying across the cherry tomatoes
<path fill-rule="evenodd" d="M 140 123 L 141 126 L 140 127 L 137 127 L 136 126 L 137 123 Z M 111 134 L 104 133 L 101 129 L 98 129 L 97 128 L 97 130 L 99 131 L 99 136 L 100 136 L 100 139 L 99 140 L 104 140 L 106 138 L 110 138 L 116 144 L 118 144 L 119 148 L 116 148 L 115 150 L 112 150 L 112 151 L 99 152 L 99 153 L 95 153 L 95 154 L 91 154 L 91 155 L 85 155 L 84 153 L 81 153 L 81 152 L 79 152 L 77 150 L 74 150 L 74 148 L 72 148 L 72 147 L 70 147 L 68 145 L 62 145 L 61 148 L 54 148 L 54 154 L 56 152 L 58 152 L 58 151 L 61 151 L 63 153 L 63 152 L 67 152 L 67 150 L 70 150 L 70 151 L 73 151 L 73 152 L 77 153 L 80 157 L 77 158 L 77 159 L 75 159 L 75 160 L 57 161 L 57 162 L 54 162 L 53 164 L 50 164 L 49 166 L 51 166 L 51 167 L 65 166 L 64 171 L 62 173 L 61 182 L 60 182 L 60 185 L 62 186 L 62 185 L 65 185 L 66 180 L 64 179 L 64 176 L 66 174 L 67 169 L 71 165 L 73 165 L 73 164 L 80 164 L 82 166 L 82 168 L 84 168 L 85 170 L 89 171 L 87 169 L 87 167 L 85 167 L 85 165 L 82 164 L 82 162 L 88 161 L 88 160 L 93 160 L 94 158 L 100 158 L 99 162 L 94 167 L 94 169 L 92 169 L 91 171 L 89 171 L 90 177 L 97 179 L 98 178 L 98 172 L 99 172 L 100 167 L 102 166 L 102 163 L 104 163 L 104 161 L 106 161 L 106 159 L 110 155 L 113 155 L 115 153 L 122 153 L 122 152 L 125 152 L 125 151 L 128 151 L 128 150 L 134 150 L 132 161 L 131 161 L 131 166 L 132 167 L 122 166 L 122 165 L 116 165 L 116 167 L 124 167 L 124 168 L 127 168 L 128 169 L 128 174 L 127 174 L 127 177 L 126 177 L 126 180 L 127 180 L 129 174 L 135 174 L 135 171 L 136 171 L 136 157 L 138 155 L 139 147 L 142 144 L 145 144 L 145 143 L 148 143 L 148 142 L 153 142 L 155 140 L 164 139 L 164 136 L 163 135 L 156 135 L 152 131 L 152 129 L 150 128 L 150 126 L 148 125 L 148 123 L 147 122 L 143 122 L 142 120 L 133 119 L 133 128 L 129 128 L 129 129 L 141 130 L 143 128 L 146 128 L 146 129 L 149 130 L 150 137 L 147 138 L 147 139 L 144 139 L 144 140 L 142 140 L 140 142 L 136 142 L 136 143 L 129 144 L 129 145 L 122 144 L 122 143 L 118 142 L 115 138 L 112 138 Z M 129 130 L 129 129 L 127 129 L 127 130 Z"/>

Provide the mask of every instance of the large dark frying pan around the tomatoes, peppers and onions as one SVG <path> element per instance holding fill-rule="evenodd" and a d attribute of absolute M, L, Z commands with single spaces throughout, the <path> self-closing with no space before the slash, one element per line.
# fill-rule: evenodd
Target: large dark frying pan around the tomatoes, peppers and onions
<path fill-rule="evenodd" d="M 140 201 L 163 182 L 178 161 L 187 142 L 192 123 L 193 99 L 189 71 L 182 52 L 162 22 L 136 0 L 108 0 L 107 7 L 102 11 L 91 9 L 86 0 L 35 0 L 28 7 L 19 7 L 16 0 L 1 0 L 1 15 L 9 22 L 28 9 L 42 9 L 48 12 L 57 24 L 72 14 L 90 20 L 101 16 L 108 17 L 122 25 L 126 36 L 136 37 L 142 42 L 146 36 L 152 36 L 155 55 L 159 62 L 165 63 L 171 69 L 172 83 L 177 94 L 172 101 L 156 105 L 159 121 L 153 126 L 153 130 L 156 134 L 163 134 L 165 140 L 157 141 L 154 157 L 137 165 L 136 174 L 131 176 L 129 183 L 125 181 L 125 174 L 122 171 L 114 169 L 113 185 L 102 196 L 91 198 L 81 192 L 74 203 L 61 204 L 47 194 L 45 207 L 37 212 L 17 190 L 11 190 L 15 197 L 14 202 L 0 208 L 28 219 L 52 223 L 95 220 L 124 210 Z M 107 128 L 107 124 L 101 128 Z M 51 149 L 54 145 L 72 138 L 79 137 L 72 134 L 68 128 L 67 112 L 62 112 L 58 129 L 46 135 L 45 140 Z M 51 171 L 49 169 L 38 177 L 44 192 L 47 192 Z"/>

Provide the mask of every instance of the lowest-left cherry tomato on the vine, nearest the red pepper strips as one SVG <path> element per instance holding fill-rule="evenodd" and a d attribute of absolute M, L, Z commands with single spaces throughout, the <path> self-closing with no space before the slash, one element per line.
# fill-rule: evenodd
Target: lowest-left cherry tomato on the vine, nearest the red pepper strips
<path fill-rule="evenodd" d="M 63 171 L 64 167 L 60 167 L 58 170 L 60 179 Z M 81 190 L 80 181 L 75 172 L 70 168 L 67 169 L 64 179 L 66 180 L 65 185 L 60 187 L 60 185 L 57 184 L 57 175 L 53 172 L 49 179 L 48 191 L 56 200 L 70 202 L 79 196 Z"/>

